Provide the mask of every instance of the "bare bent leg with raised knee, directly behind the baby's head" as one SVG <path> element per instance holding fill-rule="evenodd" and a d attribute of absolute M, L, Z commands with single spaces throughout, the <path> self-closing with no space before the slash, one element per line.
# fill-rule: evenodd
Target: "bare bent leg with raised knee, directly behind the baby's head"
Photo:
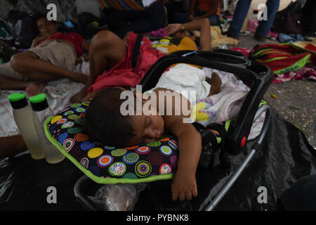
<path fill-rule="evenodd" d="M 89 49 L 90 75 L 87 85 L 78 94 L 72 96 L 72 103 L 79 102 L 86 96 L 88 87 L 105 70 L 110 70 L 119 63 L 126 53 L 126 45 L 116 34 L 108 30 L 98 32 L 91 40 Z"/>

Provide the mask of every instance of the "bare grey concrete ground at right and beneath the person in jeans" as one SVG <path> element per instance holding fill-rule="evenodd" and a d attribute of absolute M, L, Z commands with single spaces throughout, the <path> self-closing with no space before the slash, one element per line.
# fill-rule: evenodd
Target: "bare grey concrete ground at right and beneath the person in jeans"
<path fill-rule="evenodd" d="M 240 48 L 252 48 L 256 44 L 278 44 L 266 39 L 258 42 L 254 34 L 239 37 Z M 232 47 L 232 46 L 229 46 Z M 282 117 L 301 129 L 312 146 L 316 147 L 316 82 L 310 79 L 271 84 L 264 99 Z M 273 98 L 271 94 L 277 96 Z"/>

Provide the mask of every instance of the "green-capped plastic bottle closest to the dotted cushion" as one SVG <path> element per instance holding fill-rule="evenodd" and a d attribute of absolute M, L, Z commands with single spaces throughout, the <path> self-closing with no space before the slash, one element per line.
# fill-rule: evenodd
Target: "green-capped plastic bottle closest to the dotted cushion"
<path fill-rule="evenodd" d="M 45 94 L 38 94 L 29 98 L 33 109 L 34 125 L 37 129 L 37 134 L 41 142 L 41 148 L 44 150 L 46 161 L 49 163 L 61 162 L 65 155 L 62 155 L 57 147 L 48 141 L 45 131 L 44 122 L 47 117 L 53 115 L 53 110 L 48 107 Z"/>

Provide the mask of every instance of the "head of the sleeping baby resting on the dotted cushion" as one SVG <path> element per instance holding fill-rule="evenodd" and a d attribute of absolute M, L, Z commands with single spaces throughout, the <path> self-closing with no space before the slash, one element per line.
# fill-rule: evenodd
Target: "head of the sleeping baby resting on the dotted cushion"
<path fill-rule="evenodd" d="M 144 109 L 147 112 L 142 110 L 141 115 L 136 115 L 139 95 L 135 91 L 133 99 L 129 99 L 134 115 L 124 115 L 121 105 L 126 105 L 126 99 L 120 98 L 122 91 L 126 90 L 110 88 L 96 94 L 86 110 L 84 131 L 91 139 L 109 146 L 135 146 L 159 140 L 164 132 L 162 116 L 154 108 Z M 142 101 L 140 104 L 143 108 Z"/>

